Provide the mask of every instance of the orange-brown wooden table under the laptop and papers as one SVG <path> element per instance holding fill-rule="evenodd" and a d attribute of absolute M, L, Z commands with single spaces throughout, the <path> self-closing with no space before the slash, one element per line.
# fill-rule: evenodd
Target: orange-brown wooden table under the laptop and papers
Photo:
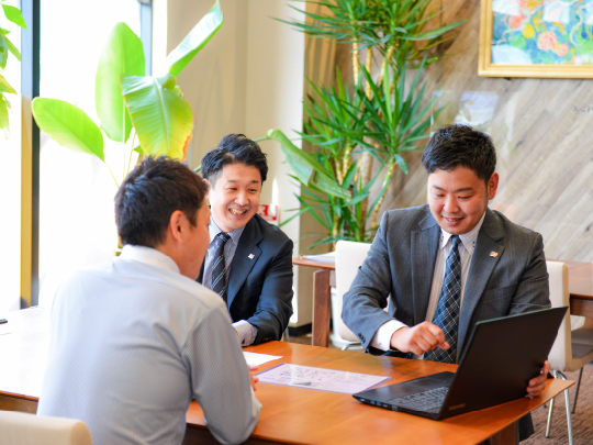
<path fill-rule="evenodd" d="M 377 357 L 348 352 L 271 342 L 248 347 L 254 353 L 282 356 L 260 367 L 294 363 L 356 372 L 391 376 L 383 385 L 405 381 L 424 375 L 452 370 L 456 365 L 423 360 Z M 573 385 L 548 380 L 542 396 L 521 399 L 486 410 L 474 411 L 444 421 L 369 407 L 349 394 L 312 389 L 259 383 L 256 396 L 262 403 L 259 423 L 248 444 L 475 444 L 493 437 L 494 444 L 515 443 L 515 422 Z M 215 444 L 203 423 L 201 408 L 192 402 L 187 414 L 187 444 Z"/>

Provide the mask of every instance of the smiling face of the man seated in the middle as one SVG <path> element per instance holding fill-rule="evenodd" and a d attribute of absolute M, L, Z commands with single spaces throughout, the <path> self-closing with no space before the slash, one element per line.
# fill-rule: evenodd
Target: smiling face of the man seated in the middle
<path fill-rule="evenodd" d="M 254 166 L 227 164 L 209 182 L 212 219 L 223 232 L 244 227 L 257 213 L 261 193 L 261 174 Z"/>

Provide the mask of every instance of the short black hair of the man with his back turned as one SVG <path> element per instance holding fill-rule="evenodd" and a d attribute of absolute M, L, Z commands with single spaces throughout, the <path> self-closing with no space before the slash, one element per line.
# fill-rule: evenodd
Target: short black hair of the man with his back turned
<path fill-rule="evenodd" d="M 180 210 L 192 225 L 206 186 L 178 160 L 147 157 L 115 193 L 115 224 L 122 245 L 157 247 L 165 242 L 171 214 Z"/>

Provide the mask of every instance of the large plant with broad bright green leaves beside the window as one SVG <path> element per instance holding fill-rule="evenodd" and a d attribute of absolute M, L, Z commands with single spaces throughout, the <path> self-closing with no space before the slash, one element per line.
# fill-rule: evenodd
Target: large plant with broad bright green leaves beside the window
<path fill-rule="evenodd" d="M 94 91 L 100 126 L 78 108 L 57 99 L 36 99 L 35 121 L 58 144 L 96 155 L 103 163 L 101 130 L 112 141 L 122 143 L 124 165 L 125 157 L 128 155 L 131 159 L 134 153 L 183 159 L 191 138 L 193 113 L 172 73 L 179 74 L 191 62 L 221 29 L 222 21 L 216 0 L 204 19 L 171 52 L 167 59 L 171 74 L 164 77 L 145 76 L 142 41 L 125 23 L 118 23 L 97 68 Z M 0 113 L 0 123 L 1 119 Z M 139 146 L 135 144 L 136 137 Z"/>

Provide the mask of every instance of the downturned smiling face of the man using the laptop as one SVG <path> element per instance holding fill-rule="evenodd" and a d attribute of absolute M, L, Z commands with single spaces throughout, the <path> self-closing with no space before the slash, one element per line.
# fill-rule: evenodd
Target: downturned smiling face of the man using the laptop
<path fill-rule="evenodd" d="M 499 174 L 488 181 L 467 167 L 447 171 L 436 169 L 428 176 L 428 205 L 438 225 L 452 235 L 470 232 L 496 194 Z"/>

